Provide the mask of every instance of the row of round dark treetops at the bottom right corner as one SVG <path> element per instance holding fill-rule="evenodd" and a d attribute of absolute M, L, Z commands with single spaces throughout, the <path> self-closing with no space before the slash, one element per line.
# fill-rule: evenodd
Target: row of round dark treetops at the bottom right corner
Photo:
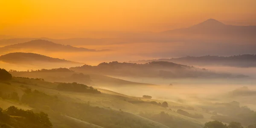
<path fill-rule="evenodd" d="M 220 121 L 214 120 L 205 123 L 204 128 L 256 128 L 256 124 L 243 127 L 240 122 L 230 122 L 226 125 Z"/>

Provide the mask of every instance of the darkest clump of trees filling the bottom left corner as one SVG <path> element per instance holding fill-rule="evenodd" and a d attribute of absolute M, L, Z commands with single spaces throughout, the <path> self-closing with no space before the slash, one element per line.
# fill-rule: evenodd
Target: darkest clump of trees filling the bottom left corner
<path fill-rule="evenodd" d="M 47 113 L 34 113 L 31 110 L 24 111 L 15 106 L 6 110 L 0 108 L 0 122 L 3 122 L 3 128 L 6 125 L 15 128 L 52 128 Z"/>

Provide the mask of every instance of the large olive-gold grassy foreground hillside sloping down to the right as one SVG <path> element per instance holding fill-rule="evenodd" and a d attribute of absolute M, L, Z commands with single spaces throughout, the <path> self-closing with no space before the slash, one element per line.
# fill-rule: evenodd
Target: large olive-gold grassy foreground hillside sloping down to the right
<path fill-rule="evenodd" d="M 22 83 L 22 85 L 20 85 Z M 9 86 L 15 90 L 7 89 Z M 5 87 L 2 94 L 21 91 L 19 108 L 31 106 L 33 111 L 43 111 L 49 115 L 53 128 L 201 128 L 202 122 L 189 119 L 169 109 L 150 102 L 144 102 L 133 96 L 119 93 L 76 93 L 58 90 L 58 83 L 35 79 L 14 78 L 12 81 L 0 83 Z M 28 91 L 31 89 L 31 91 Z M 40 99 L 40 100 L 35 100 Z M 4 99 L 8 102 L 10 99 Z M 2 101 L 2 100 L 0 100 Z M 14 101 L 18 102 L 18 101 Z M 159 101 L 163 102 L 163 101 Z M 171 104 L 171 102 L 170 102 Z M 13 103 L 16 105 L 16 103 Z M 7 107 L 7 106 L 6 106 Z M 171 125 L 144 118 L 140 111 L 160 113 L 164 111 L 172 115 Z M 63 114 L 61 114 L 63 113 Z"/>

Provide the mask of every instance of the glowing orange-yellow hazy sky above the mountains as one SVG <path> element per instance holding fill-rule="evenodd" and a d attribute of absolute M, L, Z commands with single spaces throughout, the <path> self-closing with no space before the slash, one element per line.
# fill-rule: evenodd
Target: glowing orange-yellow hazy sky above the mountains
<path fill-rule="evenodd" d="M 81 37 L 84 31 L 158 32 L 208 18 L 256 25 L 255 6 L 256 0 L 0 0 L 0 35 L 55 38 L 61 33 Z"/>

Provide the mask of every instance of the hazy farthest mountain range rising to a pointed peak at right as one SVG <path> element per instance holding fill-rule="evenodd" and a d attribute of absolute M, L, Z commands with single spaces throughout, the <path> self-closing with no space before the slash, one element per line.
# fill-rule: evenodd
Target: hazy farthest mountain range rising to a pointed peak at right
<path fill-rule="evenodd" d="M 107 32 L 105 34 L 107 34 Z M 140 32 L 133 34 L 123 33 L 122 35 L 116 35 L 112 38 L 10 38 L 0 40 L 0 46 L 42 39 L 58 44 L 72 46 L 99 45 L 108 47 L 108 45 L 111 45 L 111 49 L 120 50 L 121 48 L 126 49 L 124 47 L 125 45 L 145 47 L 145 44 L 150 43 L 151 46 L 156 46 L 155 49 L 152 48 L 151 52 L 145 53 L 142 51 L 144 49 L 141 51 L 140 49 L 134 49 L 134 52 L 137 52 L 137 55 L 148 56 L 151 58 L 170 58 L 173 56 L 184 55 L 227 56 L 237 54 L 255 54 L 255 35 L 256 26 L 234 26 L 221 23 L 218 20 L 208 19 L 194 26 L 167 30 L 164 32 Z M 170 48 L 168 49 L 168 47 Z M 49 51 L 51 49 L 47 50 Z M 3 51 L 3 49 L 0 49 L 0 52 L 1 51 Z M 25 51 L 34 52 L 27 50 Z M 2 54 L 6 53 L 8 52 Z M 40 52 L 36 53 L 44 54 Z"/>

